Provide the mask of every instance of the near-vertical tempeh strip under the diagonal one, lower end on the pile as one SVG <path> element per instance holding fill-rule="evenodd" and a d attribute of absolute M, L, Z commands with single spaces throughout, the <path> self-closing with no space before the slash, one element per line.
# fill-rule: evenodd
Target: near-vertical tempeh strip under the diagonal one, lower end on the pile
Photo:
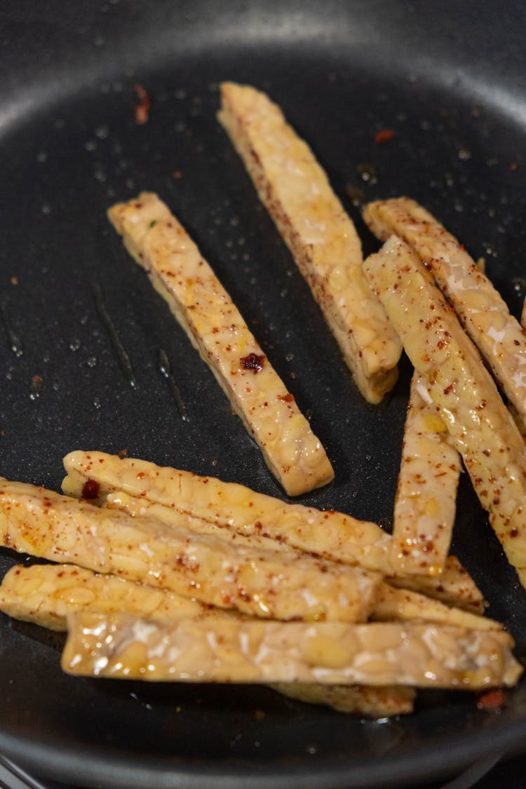
<path fill-rule="evenodd" d="M 450 551 L 461 459 L 427 395 L 412 376 L 394 500 L 391 563 L 400 573 L 439 574 Z M 420 394 L 420 389 L 423 393 Z"/>

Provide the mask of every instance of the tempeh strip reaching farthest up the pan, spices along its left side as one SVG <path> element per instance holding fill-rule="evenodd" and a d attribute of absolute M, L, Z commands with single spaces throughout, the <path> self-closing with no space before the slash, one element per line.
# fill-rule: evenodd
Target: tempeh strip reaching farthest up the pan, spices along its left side
<path fill-rule="evenodd" d="M 311 287 L 361 393 L 379 402 L 401 353 L 361 271 L 360 239 L 308 145 L 267 95 L 224 82 L 218 119 Z"/>

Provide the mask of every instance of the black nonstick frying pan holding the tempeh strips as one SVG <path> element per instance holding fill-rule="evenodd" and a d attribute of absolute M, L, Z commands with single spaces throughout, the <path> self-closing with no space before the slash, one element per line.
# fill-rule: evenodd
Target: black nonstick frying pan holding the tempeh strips
<path fill-rule="evenodd" d="M 58 489 L 68 451 L 126 450 L 282 495 L 108 227 L 110 204 L 151 189 L 195 237 L 311 414 L 336 479 L 303 500 L 390 528 L 409 365 L 402 361 L 381 406 L 360 398 L 215 120 L 218 83 L 254 84 L 282 105 L 365 252 L 376 244 L 356 189 L 366 199 L 406 193 L 486 258 L 518 315 L 525 21 L 520 2 L 475 0 L 3 3 L 2 474 Z M 144 125 L 136 84 L 151 96 Z M 375 144 L 385 128 L 394 136 Z M 159 372 L 161 349 L 188 422 Z M 453 550 L 524 658 L 526 596 L 464 478 Z M 19 560 L 2 549 L 0 572 Z M 58 667 L 60 639 L 4 615 L 0 630 L 0 752 L 82 786 L 408 785 L 526 741 L 524 682 L 500 714 L 480 712 L 471 695 L 429 692 L 414 715 L 373 722 L 263 687 L 73 679 Z"/>

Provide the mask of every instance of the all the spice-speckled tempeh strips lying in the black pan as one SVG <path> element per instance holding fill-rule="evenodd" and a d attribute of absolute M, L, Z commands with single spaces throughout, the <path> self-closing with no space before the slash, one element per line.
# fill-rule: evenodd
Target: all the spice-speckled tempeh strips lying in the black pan
<path fill-rule="evenodd" d="M 394 534 L 213 477 L 77 451 L 65 458 L 66 495 L 0 483 L 0 543 L 59 563 L 9 570 L 0 609 L 67 629 L 62 666 L 73 674 L 261 682 L 371 716 L 410 712 L 416 687 L 513 686 L 513 640 L 482 615 L 449 549 L 463 461 L 526 583 L 524 329 L 412 200 L 367 206 L 385 244 L 364 262 L 326 175 L 266 95 L 223 84 L 219 118 L 364 397 L 379 402 L 394 385 L 402 346 L 415 367 Z M 285 491 L 330 482 L 293 394 L 166 205 L 143 193 L 109 214 Z"/>

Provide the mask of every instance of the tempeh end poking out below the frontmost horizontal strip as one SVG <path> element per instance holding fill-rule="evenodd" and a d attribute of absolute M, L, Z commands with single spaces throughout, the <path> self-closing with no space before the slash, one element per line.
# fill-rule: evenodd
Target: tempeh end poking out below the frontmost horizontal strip
<path fill-rule="evenodd" d="M 367 718 L 408 715 L 413 711 L 415 689 L 389 685 L 316 685 L 314 682 L 279 682 L 274 690 L 308 704 L 329 705 L 337 712 L 350 712 Z"/>

